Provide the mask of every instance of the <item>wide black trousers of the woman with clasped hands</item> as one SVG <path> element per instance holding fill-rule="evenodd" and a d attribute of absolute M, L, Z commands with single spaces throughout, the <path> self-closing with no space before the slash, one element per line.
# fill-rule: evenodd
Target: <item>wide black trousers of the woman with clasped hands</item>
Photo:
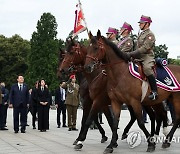
<path fill-rule="evenodd" d="M 38 130 L 49 129 L 49 106 L 38 106 Z"/>

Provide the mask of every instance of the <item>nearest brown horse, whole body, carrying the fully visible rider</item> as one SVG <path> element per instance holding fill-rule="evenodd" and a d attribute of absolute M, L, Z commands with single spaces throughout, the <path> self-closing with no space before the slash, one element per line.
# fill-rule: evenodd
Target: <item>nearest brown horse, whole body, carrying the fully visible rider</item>
<path fill-rule="evenodd" d="M 141 106 L 141 84 L 142 82 L 134 78 L 128 70 L 128 63 L 126 60 L 126 54 L 121 52 L 117 46 L 101 36 L 101 32 L 98 31 L 97 36 L 94 37 L 90 33 L 91 43 L 88 47 L 85 68 L 90 73 L 94 71 L 94 64 L 104 63 L 107 71 L 107 91 L 111 99 L 111 105 L 114 113 L 114 130 L 111 143 L 105 150 L 105 153 L 113 151 L 113 144 L 115 136 L 117 135 L 118 119 L 120 117 L 121 106 L 125 102 L 127 105 L 132 106 L 139 127 L 144 132 L 147 142 L 147 151 L 154 151 L 155 144 L 150 138 L 150 134 L 144 126 L 142 119 L 142 106 Z M 180 82 L 180 67 L 169 65 L 170 70 L 176 76 L 178 82 Z M 150 88 L 148 89 L 150 93 Z M 147 95 L 148 95 L 147 93 Z M 165 99 L 170 99 L 174 105 L 176 113 L 176 121 L 169 134 L 166 136 L 166 140 L 162 147 L 167 148 L 170 146 L 173 134 L 180 123 L 180 92 L 168 92 L 163 89 L 158 89 L 159 98 L 156 101 L 148 99 L 147 95 L 143 100 L 143 105 L 151 106 L 161 103 Z"/>

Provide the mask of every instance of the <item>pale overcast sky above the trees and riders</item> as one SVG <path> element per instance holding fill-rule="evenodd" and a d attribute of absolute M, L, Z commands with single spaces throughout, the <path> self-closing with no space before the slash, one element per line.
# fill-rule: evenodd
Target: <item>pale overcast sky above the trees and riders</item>
<path fill-rule="evenodd" d="M 30 40 L 37 21 L 44 12 L 50 12 L 58 23 L 57 38 L 65 39 L 73 29 L 75 5 L 78 0 L 0 0 L 0 34 L 11 37 L 19 34 Z M 151 16 L 151 30 L 156 45 L 166 44 L 169 57 L 180 55 L 180 1 L 179 0 L 81 0 L 88 29 L 105 35 L 108 27 L 119 28 L 126 21 L 134 34 L 139 31 L 140 16 Z M 83 32 L 80 38 L 87 38 Z"/>

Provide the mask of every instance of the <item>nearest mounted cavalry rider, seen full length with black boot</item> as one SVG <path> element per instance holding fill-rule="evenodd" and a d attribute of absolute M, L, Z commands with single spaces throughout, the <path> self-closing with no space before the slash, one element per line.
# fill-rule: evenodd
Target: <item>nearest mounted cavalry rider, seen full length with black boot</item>
<path fill-rule="evenodd" d="M 151 94 L 148 96 L 151 100 L 156 100 L 158 97 L 157 85 L 154 77 L 153 67 L 155 65 L 155 56 L 153 47 L 155 45 L 155 36 L 149 29 L 152 20 L 148 16 L 141 16 L 139 27 L 142 30 L 137 38 L 137 49 L 128 53 L 128 58 L 136 58 L 142 61 L 143 71 L 146 75 L 150 87 Z"/>

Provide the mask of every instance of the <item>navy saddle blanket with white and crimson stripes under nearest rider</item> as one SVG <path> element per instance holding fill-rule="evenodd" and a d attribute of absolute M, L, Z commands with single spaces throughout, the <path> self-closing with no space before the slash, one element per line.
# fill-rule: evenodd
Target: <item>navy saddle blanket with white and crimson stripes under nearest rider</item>
<path fill-rule="evenodd" d="M 129 62 L 129 71 L 132 76 L 142 80 L 138 72 L 138 65 Z M 156 83 L 157 86 L 166 91 L 177 92 L 180 91 L 180 84 L 167 66 L 156 67 Z"/>

